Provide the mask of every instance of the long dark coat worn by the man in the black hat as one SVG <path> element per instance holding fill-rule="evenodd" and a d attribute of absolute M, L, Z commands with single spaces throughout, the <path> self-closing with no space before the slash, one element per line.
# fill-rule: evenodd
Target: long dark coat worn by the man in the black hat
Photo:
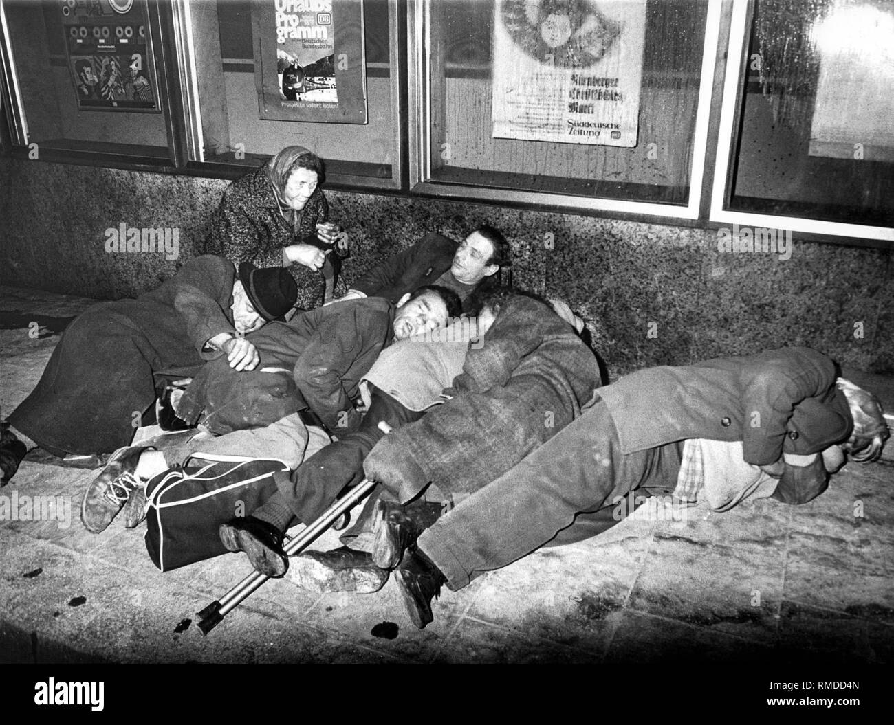
<path fill-rule="evenodd" d="M 10 422 L 46 450 L 108 453 L 127 446 L 156 399 L 154 373 L 193 375 L 219 351 L 210 337 L 235 334 L 236 269 L 200 256 L 137 299 L 96 304 L 63 332 L 46 370 Z"/>

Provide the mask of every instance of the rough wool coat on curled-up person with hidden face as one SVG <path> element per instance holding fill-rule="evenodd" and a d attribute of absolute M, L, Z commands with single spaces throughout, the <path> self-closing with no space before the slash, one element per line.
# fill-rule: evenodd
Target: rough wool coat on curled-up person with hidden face
<path fill-rule="evenodd" d="M 443 493 L 490 483 L 580 415 L 600 385 L 595 356 L 552 309 L 529 297 L 504 304 L 470 347 L 452 396 L 393 430 L 367 456 L 367 477 L 407 501 L 429 481 Z"/>

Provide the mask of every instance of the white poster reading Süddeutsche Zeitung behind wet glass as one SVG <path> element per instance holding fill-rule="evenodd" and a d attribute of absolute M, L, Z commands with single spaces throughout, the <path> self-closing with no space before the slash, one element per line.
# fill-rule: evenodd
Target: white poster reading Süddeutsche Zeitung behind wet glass
<path fill-rule="evenodd" d="M 493 137 L 636 146 L 646 0 L 497 0 Z"/>

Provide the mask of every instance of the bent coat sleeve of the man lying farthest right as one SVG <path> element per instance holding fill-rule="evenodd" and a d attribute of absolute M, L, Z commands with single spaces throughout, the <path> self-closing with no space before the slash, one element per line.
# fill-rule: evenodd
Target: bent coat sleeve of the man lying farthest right
<path fill-rule="evenodd" d="M 785 350 L 768 356 L 762 370 L 746 379 L 742 398 L 742 452 L 745 461 L 769 465 L 782 455 L 782 445 L 795 407 L 808 397 L 822 396 L 835 384 L 835 363 L 814 350 Z"/>

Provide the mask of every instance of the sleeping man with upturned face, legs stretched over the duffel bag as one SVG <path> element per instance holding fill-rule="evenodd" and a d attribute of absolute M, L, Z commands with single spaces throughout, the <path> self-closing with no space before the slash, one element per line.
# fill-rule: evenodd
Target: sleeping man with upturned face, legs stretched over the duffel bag
<path fill-rule="evenodd" d="M 207 429 L 221 435 L 165 452 L 119 448 L 88 487 L 81 521 L 97 533 L 130 502 L 126 519 L 135 526 L 148 479 L 197 451 L 274 457 L 297 467 L 328 442 L 325 429 L 344 435 L 357 427 L 358 383 L 385 346 L 431 332 L 459 313 L 451 290 L 420 287 L 397 305 L 377 297 L 351 300 L 249 335 L 245 342 L 258 357 L 253 370 L 236 372 L 225 359 L 209 362 L 176 407 L 187 423 L 204 415 Z"/>

